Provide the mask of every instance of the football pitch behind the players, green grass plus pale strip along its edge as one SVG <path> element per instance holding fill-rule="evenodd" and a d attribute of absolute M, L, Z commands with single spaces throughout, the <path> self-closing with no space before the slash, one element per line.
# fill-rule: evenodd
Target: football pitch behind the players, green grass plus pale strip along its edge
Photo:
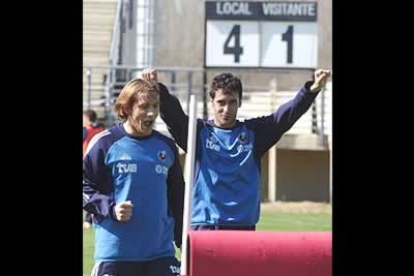
<path fill-rule="evenodd" d="M 257 231 L 332 231 L 330 205 L 302 204 L 283 208 L 262 207 Z M 286 207 L 287 206 L 287 207 Z M 315 207 L 316 206 L 316 207 Z M 93 267 L 93 230 L 83 230 L 83 276 L 89 276 Z M 176 256 L 178 257 L 179 250 Z"/>

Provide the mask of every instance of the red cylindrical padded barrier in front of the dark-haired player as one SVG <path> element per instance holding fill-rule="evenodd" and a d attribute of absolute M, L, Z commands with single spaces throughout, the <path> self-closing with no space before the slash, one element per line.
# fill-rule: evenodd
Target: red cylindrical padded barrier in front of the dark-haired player
<path fill-rule="evenodd" d="M 332 232 L 190 231 L 189 276 L 331 276 Z"/>

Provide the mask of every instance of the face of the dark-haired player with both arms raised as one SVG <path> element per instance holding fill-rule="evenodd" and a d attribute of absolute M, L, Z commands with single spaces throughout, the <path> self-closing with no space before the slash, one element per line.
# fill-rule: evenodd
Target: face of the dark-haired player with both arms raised
<path fill-rule="evenodd" d="M 216 91 L 212 99 L 214 109 L 214 124 L 222 128 L 230 128 L 236 123 L 240 99 L 237 93 L 224 94 L 221 89 Z"/>

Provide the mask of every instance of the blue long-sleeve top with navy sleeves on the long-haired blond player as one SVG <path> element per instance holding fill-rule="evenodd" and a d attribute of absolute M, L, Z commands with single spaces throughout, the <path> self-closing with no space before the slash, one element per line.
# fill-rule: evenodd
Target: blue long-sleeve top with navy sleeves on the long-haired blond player
<path fill-rule="evenodd" d="M 119 222 L 115 205 L 130 200 Z M 148 261 L 181 246 L 184 180 L 175 142 L 153 130 L 128 135 L 122 124 L 97 134 L 83 160 L 83 208 L 94 214 L 95 260 Z"/>

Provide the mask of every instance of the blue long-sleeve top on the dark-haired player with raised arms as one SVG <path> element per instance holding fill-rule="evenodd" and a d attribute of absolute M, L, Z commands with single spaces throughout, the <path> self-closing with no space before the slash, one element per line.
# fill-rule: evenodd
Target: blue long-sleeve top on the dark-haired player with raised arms
<path fill-rule="evenodd" d="M 260 217 L 260 160 L 312 105 L 319 91 L 307 82 L 274 113 L 223 129 L 197 119 L 192 225 L 255 225 Z M 188 116 L 160 83 L 161 118 L 187 150 Z"/>

